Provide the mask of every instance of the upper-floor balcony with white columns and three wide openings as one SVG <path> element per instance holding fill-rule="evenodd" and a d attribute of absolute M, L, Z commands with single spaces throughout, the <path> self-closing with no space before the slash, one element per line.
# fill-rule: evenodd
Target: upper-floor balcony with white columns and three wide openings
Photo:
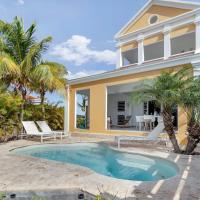
<path fill-rule="evenodd" d="M 150 44 L 148 38 L 161 35 L 159 40 Z M 167 22 L 156 24 L 117 38 L 119 56 L 117 68 L 140 66 L 157 60 L 200 53 L 200 9 L 175 17 Z M 122 50 L 124 45 L 137 43 L 132 49 Z"/>

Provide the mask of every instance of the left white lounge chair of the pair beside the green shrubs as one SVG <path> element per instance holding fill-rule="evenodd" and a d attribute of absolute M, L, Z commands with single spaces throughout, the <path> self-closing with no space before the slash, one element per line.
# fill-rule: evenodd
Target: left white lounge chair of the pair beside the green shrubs
<path fill-rule="evenodd" d="M 54 138 L 56 140 L 56 133 L 52 132 L 40 132 L 33 121 L 22 121 L 23 127 L 26 131 L 25 136 L 38 136 L 40 141 L 43 142 L 44 139 Z"/>

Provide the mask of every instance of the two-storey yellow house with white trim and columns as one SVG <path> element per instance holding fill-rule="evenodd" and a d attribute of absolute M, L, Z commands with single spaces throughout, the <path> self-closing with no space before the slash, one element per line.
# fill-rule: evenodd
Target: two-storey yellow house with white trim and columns
<path fill-rule="evenodd" d="M 160 108 L 154 100 L 141 104 L 130 100 L 139 81 L 186 64 L 194 66 L 194 75 L 200 74 L 199 3 L 150 0 L 115 39 L 115 70 L 68 82 L 69 133 L 143 135 L 156 126 L 158 117 L 153 116 L 159 116 Z M 144 116 L 152 116 L 152 123 L 142 123 Z M 176 106 L 174 125 L 182 142 L 186 117 Z"/>

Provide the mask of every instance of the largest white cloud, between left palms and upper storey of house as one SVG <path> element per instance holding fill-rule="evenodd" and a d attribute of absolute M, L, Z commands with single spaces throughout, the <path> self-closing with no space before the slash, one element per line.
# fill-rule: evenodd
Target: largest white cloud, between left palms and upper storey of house
<path fill-rule="evenodd" d="M 116 63 L 116 53 L 111 50 L 93 50 L 90 47 L 91 39 L 82 35 L 73 35 L 66 42 L 56 45 L 51 55 L 58 56 L 75 65 L 82 65 L 89 61 L 106 63 L 112 65 Z"/>

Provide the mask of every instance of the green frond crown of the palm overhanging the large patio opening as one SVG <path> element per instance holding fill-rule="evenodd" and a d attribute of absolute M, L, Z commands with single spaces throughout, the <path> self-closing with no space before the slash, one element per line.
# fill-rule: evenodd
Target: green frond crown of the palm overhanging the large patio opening
<path fill-rule="evenodd" d="M 135 102 L 156 100 L 160 105 L 172 107 L 181 102 L 182 90 L 191 82 L 188 76 L 191 67 L 184 68 L 178 72 L 162 72 L 154 79 L 152 84 L 141 84 L 140 88 L 132 93 Z"/>

